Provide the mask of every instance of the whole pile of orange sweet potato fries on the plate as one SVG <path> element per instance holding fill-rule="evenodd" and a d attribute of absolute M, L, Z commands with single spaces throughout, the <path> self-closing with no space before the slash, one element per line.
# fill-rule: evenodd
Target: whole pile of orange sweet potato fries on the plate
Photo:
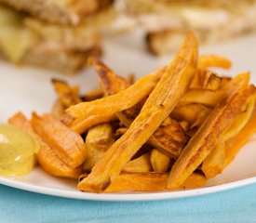
<path fill-rule="evenodd" d="M 222 173 L 256 132 L 256 87 L 249 73 L 235 78 L 219 56 L 198 56 L 193 33 L 167 66 L 136 82 L 97 58 L 89 59 L 101 89 L 52 84 L 51 112 L 9 119 L 41 145 L 38 163 L 57 177 L 78 179 L 89 192 L 159 191 L 202 187 Z"/>

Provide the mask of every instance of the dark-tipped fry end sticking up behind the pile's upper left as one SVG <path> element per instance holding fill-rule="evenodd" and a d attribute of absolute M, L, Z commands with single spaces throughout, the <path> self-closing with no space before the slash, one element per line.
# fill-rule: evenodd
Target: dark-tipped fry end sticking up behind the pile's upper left
<path fill-rule="evenodd" d="M 51 83 L 65 109 L 81 102 L 81 99 L 78 96 L 78 87 L 76 85 L 71 87 L 66 82 L 57 79 L 52 79 Z"/>

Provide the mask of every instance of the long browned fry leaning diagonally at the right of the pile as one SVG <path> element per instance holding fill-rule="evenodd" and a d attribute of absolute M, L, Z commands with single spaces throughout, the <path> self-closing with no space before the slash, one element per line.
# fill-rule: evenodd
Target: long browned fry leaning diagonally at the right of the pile
<path fill-rule="evenodd" d="M 212 151 L 216 140 L 243 111 L 253 91 L 253 85 L 246 85 L 244 82 L 238 84 L 232 94 L 209 114 L 172 166 L 168 178 L 168 190 L 182 187 L 184 181 Z"/>

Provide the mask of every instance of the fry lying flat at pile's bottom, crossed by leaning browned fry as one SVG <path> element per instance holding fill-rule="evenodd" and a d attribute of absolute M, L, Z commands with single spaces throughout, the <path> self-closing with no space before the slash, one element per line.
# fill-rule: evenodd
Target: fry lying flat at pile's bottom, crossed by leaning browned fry
<path fill-rule="evenodd" d="M 193 173 L 184 183 L 184 189 L 199 188 L 206 184 L 206 177 L 200 172 Z M 168 182 L 168 174 L 120 174 L 103 192 L 118 191 L 164 191 Z"/>

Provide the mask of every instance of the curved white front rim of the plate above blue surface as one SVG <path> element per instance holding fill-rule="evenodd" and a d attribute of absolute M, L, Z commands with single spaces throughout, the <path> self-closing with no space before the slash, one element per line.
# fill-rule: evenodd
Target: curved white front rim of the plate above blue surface
<path fill-rule="evenodd" d="M 191 190 L 175 190 L 175 191 L 157 191 L 157 192 L 137 192 L 137 193 L 91 193 L 82 191 L 68 191 L 54 188 L 47 188 L 38 185 L 31 185 L 20 180 L 15 180 L 7 177 L 0 177 L 0 184 L 18 190 L 25 190 L 38 194 L 44 194 L 54 197 L 84 200 L 84 201 L 98 201 L 98 202 L 150 202 L 162 200 L 174 200 L 180 198 L 195 197 L 207 195 L 211 193 L 221 192 L 224 190 L 233 190 L 256 183 L 256 177 L 249 177 L 239 179 L 229 183 L 214 185 L 209 187 L 202 187 Z"/>

